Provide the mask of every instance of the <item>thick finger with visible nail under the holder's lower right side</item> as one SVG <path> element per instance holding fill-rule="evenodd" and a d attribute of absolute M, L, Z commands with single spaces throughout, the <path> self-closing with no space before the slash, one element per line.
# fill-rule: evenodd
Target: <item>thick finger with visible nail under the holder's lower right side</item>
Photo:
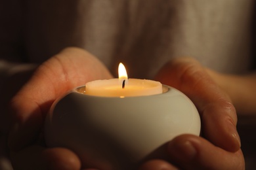
<path fill-rule="evenodd" d="M 245 169 L 241 150 L 228 152 L 194 135 L 176 137 L 168 151 L 182 169 Z"/>

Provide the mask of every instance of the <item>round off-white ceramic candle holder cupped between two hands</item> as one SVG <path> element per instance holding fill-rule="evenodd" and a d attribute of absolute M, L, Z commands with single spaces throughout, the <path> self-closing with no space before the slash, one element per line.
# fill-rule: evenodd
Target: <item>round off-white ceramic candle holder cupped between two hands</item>
<path fill-rule="evenodd" d="M 73 150 L 83 165 L 133 169 L 141 161 L 163 158 L 163 146 L 184 133 L 200 135 L 198 110 L 175 88 L 139 97 L 85 95 L 75 88 L 56 101 L 45 121 L 50 147 Z"/>

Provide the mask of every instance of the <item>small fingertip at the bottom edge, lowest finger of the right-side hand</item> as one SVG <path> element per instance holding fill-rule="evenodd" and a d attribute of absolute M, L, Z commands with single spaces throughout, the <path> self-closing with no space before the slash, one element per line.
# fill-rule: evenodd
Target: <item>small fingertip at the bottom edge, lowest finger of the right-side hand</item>
<path fill-rule="evenodd" d="M 150 160 L 139 167 L 139 170 L 177 170 L 177 167 L 163 160 Z"/>

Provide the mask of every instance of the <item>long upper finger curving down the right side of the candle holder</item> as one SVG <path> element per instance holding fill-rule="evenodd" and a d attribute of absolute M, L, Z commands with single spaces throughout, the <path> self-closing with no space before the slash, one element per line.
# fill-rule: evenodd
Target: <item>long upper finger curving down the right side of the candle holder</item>
<path fill-rule="evenodd" d="M 160 70 L 156 79 L 190 97 L 200 112 L 202 134 L 209 141 L 229 151 L 239 150 L 236 110 L 200 63 L 192 58 L 174 59 Z"/>

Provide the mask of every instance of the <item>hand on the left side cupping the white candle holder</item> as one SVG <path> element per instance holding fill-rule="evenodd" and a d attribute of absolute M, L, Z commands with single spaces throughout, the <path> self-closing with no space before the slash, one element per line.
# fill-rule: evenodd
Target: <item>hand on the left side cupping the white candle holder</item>
<path fill-rule="evenodd" d="M 79 48 L 66 48 L 43 63 L 11 101 L 9 146 L 14 169 L 81 169 L 83 165 L 71 150 L 41 144 L 45 114 L 69 90 L 108 78 L 112 78 L 108 69 Z"/>

